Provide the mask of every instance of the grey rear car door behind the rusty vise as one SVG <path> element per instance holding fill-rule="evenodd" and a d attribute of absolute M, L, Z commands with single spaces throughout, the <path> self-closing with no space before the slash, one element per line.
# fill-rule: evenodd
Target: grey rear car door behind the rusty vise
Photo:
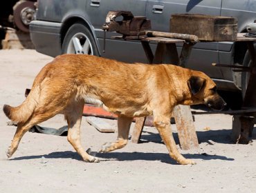
<path fill-rule="evenodd" d="M 107 13 L 110 10 L 131 11 L 134 16 L 145 16 L 146 0 L 89 0 L 86 3 L 86 14 L 95 30 L 100 44 L 102 57 L 117 59 L 120 61 L 138 62 L 146 61 L 142 45 L 134 41 L 120 41 L 111 39 L 114 32 L 107 32 L 106 52 L 103 53 L 104 33 L 102 25 L 105 23 Z M 132 57 L 131 57 L 132 56 Z"/>

